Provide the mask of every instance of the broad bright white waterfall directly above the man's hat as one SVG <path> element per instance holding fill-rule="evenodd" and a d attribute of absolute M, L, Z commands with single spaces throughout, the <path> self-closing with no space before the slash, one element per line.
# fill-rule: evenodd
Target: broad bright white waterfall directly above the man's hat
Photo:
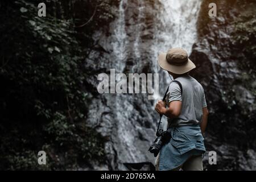
<path fill-rule="evenodd" d="M 158 15 L 156 41 L 151 47 L 154 52 L 152 65 L 155 72 L 159 72 L 156 60 L 160 52 L 181 47 L 188 54 L 191 53 L 193 43 L 197 40 L 196 23 L 201 5 L 200 0 L 160 0 L 160 2 L 163 9 Z"/>

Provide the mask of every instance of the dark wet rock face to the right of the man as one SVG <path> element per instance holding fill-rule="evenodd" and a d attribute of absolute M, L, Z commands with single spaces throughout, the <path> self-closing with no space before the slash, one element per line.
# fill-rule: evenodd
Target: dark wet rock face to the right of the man
<path fill-rule="evenodd" d="M 217 17 L 208 17 L 210 1 L 201 5 L 197 24 L 199 42 L 191 60 L 197 65 L 192 75 L 204 86 L 210 110 L 205 144 L 217 152 L 217 166 L 207 169 L 255 170 L 255 74 L 241 66 L 249 57 L 236 49 L 234 21 L 244 11 L 239 1 L 215 1 Z"/>

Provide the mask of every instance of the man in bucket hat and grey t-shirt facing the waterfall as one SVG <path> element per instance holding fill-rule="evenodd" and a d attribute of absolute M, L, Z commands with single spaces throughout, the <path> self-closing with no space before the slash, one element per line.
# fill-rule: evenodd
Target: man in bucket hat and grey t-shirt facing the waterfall
<path fill-rule="evenodd" d="M 159 152 L 156 169 L 203 171 L 205 147 L 202 134 L 207 127 L 208 109 L 203 86 L 188 75 L 196 66 L 181 48 L 161 53 L 158 64 L 180 82 L 183 91 L 181 93 L 177 82 L 171 82 L 166 101 L 158 101 L 155 106 L 159 114 L 168 118 L 172 136 Z"/>

